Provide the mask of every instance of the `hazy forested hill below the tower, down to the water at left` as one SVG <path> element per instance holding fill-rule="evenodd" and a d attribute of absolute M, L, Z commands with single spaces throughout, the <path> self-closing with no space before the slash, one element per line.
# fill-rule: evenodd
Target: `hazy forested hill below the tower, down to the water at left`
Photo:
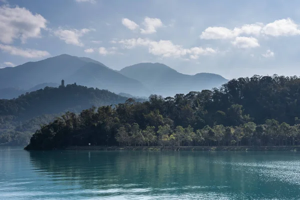
<path fill-rule="evenodd" d="M 114 105 L 127 97 L 107 90 L 68 84 L 45 87 L 13 99 L 0 99 L 0 144 L 28 144 L 41 124 L 53 121 L 66 111 L 79 113 L 91 106 Z M 136 99 L 142 101 L 144 99 Z"/>

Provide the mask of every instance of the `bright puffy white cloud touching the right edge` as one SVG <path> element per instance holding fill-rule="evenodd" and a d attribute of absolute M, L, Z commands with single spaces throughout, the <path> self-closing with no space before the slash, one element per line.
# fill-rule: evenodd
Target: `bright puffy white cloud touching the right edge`
<path fill-rule="evenodd" d="M 262 33 L 271 36 L 297 35 L 300 34 L 300 29 L 298 29 L 298 25 L 293 20 L 287 18 L 266 24 L 262 28 Z"/>

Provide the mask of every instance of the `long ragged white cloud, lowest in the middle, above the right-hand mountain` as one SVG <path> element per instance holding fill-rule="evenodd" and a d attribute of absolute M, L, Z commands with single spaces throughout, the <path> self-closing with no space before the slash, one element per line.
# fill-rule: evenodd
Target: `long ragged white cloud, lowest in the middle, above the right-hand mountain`
<path fill-rule="evenodd" d="M 212 48 L 192 47 L 183 48 L 181 45 L 173 44 L 170 40 L 153 41 L 148 38 L 131 38 L 122 39 L 118 41 L 123 44 L 125 48 L 134 48 L 136 46 L 148 47 L 148 52 L 153 55 L 162 57 L 181 57 L 184 55 L 192 55 L 191 58 L 195 59 L 198 55 L 214 54 L 217 50 Z"/>

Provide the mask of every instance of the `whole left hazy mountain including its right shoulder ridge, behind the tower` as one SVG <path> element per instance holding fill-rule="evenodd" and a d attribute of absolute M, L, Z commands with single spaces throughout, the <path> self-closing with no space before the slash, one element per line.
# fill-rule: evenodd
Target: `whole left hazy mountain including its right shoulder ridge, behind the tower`
<path fill-rule="evenodd" d="M 10 89 L 5 89 L 0 93 L 16 90 L 11 92 L 19 95 L 19 92 L 23 92 L 22 90 L 28 90 L 40 83 L 60 83 L 61 79 L 65 79 L 66 84 L 77 82 L 117 93 L 149 94 L 149 90 L 141 82 L 124 76 L 101 62 L 88 57 L 68 54 L 61 54 L 36 62 L 26 62 L 15 67 L 1 68 L 0 89 L 8 87 Z M 13 87 L 15 89 L 11 89 Z M 9 94 L 9 96 L 11 95 Z"/>

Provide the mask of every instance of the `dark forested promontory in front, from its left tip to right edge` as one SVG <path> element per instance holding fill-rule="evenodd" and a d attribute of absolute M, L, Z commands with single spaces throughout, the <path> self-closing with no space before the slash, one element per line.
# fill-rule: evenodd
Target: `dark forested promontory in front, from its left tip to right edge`
<path fill-rule="evenodd" d="M 241 77 L 220 88 L 66 112 L 26 149 L 69 145 L 299 145 L 300 78 Z"/>

